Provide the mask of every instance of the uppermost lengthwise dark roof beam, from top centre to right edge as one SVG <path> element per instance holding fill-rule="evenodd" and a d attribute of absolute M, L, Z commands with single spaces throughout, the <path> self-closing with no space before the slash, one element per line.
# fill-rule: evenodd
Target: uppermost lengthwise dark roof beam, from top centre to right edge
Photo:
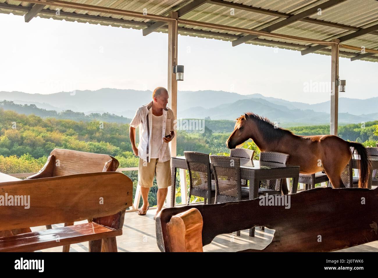
<path fill-rule="evenodd" d="M 211 0 L 211 1 L 208 1 L 208 4 L 225 6 L 229 8 L 240 9 L 243 11 L 256 12 L 259 14 L 266 14 L 268 16 L 276 16 L 276 17 L 281 17 L 281 18 L 288 18 L 290 16 L 293 16 L 293 14 L 286 14 L 284 12 L 277 12 L 277 11 L 271 11 L 268 9 L 255 8 L 252 6 L 247 6 L 247 5 L 242 5 L 242 4 L 232 3 L 232 2 L 225 2 L 222 0 Z M 340 28 L 340 29 L 345 29 L 345 30 L 350 30 L 350 31 L 358 31 L 360 29 L 355 26 L 334 23 L 334 22 L 329 22 L 329 21 L 319 20 L 319 19 L 312 19 L 310 17 L 305 17 L 303 19 L 299 19 L 298 21 L 308 22 L 308 23 L 313 23 L 313 24 L 328 26 L 328 27 L 335 27 L 335 28 Z M 370 32 L 370 34 L 378 35 L 378 32 L 373 31 L 373 32 Z"/>

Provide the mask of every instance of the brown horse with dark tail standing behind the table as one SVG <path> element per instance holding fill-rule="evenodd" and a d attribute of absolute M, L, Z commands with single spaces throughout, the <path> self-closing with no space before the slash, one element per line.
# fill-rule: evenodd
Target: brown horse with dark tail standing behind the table
<path fill-rule="evenodd" d="M 345 187 L 341 173 L 352 158 L 349 147 L 354 147 L 361 158 L 358 187 L 368 187 L 370 161 L 362 144 L 335 135 L 295 135 L 254 113 L 246 113 L 236 120 L 234 131 L 226 142 L 229 149 L 251 138 L 262 152 L 289 154 L 287 163 L 299 165 L 302 174 L 324 171 L 334 188 Z M 287 194 L 287 186 L 283 186 L 282 191 Z"/>

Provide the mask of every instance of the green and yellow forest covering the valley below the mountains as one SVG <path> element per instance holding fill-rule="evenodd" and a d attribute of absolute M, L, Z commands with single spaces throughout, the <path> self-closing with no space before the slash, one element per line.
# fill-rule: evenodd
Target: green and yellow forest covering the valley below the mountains
<path fill-rule="evenodd" d="M 205 120 L 205 126 L 203 133 L 178 130 L 178 155 L 183 155 L 184 151 L 229 153 L 225 142 L 233 130 L 234 122 Z M 329 134 L 327 125 L 291 127 L 290 130 L 297 135 Z M 339 136 L 344 140 L 375 146 L 378 142 L 378 121 L 340 126 Z M 37 172 L 54 148 L 109 154 L 119 160 L 121 168 L 138 166 L 138 158 L 131 149 L 127 123 L 42 118 L 0 108 L 0 172 Z M 244 148 L 255 149 L 255 158 L 258 159 L 259 151 L 253 142 L 246 142 Z M 137 171 L 124 173 L 133 180 L 136 188 Z M 177 197 L 180 202 L 180 193 Z M 150 203 L 156 204 L 156 188 L 150 192 Z"/>

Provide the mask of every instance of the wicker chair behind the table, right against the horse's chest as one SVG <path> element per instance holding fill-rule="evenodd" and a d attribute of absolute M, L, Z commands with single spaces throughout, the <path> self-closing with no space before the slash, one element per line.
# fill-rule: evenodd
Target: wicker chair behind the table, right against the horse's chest
<path fill-rule="evenodd" d="M 263 162 L 277 162 L 286 164 L 289 158 L 288 154 L 280 152 L 260 152 L 260 161 Z M 273 195 L 280 194 L 282 191 L 282 179 L 279 180 L 262 180 L 259 185 L 259 194 Z"/>

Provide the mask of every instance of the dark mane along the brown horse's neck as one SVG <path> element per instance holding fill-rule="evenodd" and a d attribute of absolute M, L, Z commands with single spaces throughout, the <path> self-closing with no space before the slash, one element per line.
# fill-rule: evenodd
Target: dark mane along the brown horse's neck
<path fill-rule="evenodd" d="M 284 135 L 293 134 L 290 130 L 282 129 L 280 127 L 274 127 L 274 123 L 270 121 L 268 118 L 259 116 L 255 113 L 248 112 L 245 115 L 240 116 L 236 120 L 239 122 L 244 118 L 245 120 L 254 119 L 256 120 L 257 127 L 261 130 L 261 132 L 266 135 L 266 139 L 269 141 L 273 141 L 283 137 Z"/>

